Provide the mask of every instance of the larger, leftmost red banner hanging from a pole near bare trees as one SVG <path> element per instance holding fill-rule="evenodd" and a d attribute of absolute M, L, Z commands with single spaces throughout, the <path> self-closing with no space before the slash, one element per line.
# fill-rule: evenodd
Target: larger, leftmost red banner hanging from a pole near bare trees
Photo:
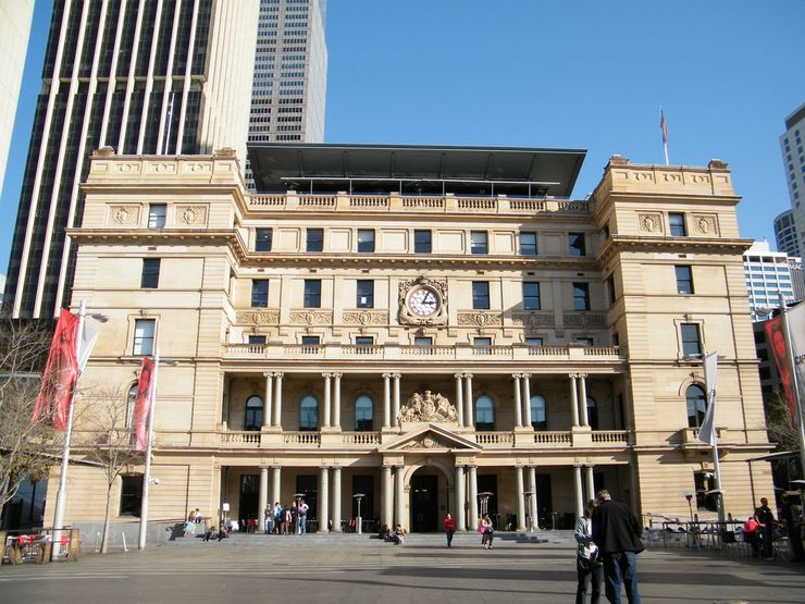
<path fill-rule="evenodd" d="M 78 380 L 76 341 L 79 319 L 62 309 L 50 343 L 48 362 L 42 372 L 42 384 L 30 421 L 50 419 L 57 430 L 67 429 L 70 402 Z"/>

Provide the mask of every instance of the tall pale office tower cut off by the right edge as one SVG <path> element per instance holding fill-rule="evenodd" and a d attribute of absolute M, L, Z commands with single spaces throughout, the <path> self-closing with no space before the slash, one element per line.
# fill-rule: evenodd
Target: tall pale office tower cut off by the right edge
<path fill-rule="evenodd" d="M 805 200 L 803 136 L 805 136 L 805 103 L 802 103 L 796 111 L 785 118 L 785 133 L 780 136 L 780 149 L 785 165 L 785 181 L 789 184 L 789 195 L 791 196 L 791 219 L 798 243 L 798 250 L 792 256 L 800 256 L 801 258 L 805 257 L 805 207 L 802 206 L 802 201 Z M 775 235 L 780 251 L 783 251 L 783 248 L 779 247 L 780 235 L 778 235 L 777 221 L 783 217 L 784 212 L 775 219 Z"/>

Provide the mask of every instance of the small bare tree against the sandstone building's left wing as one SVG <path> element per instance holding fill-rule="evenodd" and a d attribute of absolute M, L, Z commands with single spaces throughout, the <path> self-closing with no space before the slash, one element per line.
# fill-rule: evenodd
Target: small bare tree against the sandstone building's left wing
<path fill-rule="evenodd" d="M 109 550 L 112 489 L 128 466 L 143 463 L 143 453 L 132 448 L 128 421 L 126 389 L 100 386 L 84 392 L 81 419 L 74 424 L 75 452 L 83 453 L 86 461 L 101 468 L 107 481 L 101 554 Z"/>

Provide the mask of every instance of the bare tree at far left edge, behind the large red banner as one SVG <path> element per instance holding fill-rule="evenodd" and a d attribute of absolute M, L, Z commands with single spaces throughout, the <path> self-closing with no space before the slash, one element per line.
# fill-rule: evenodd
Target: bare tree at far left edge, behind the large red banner
<path fill-rule="evenodd" d="M 30 421 L 52 326 L 0 316 L 0 514 L 26 478 L 47 477 L 57 459 L 49 418 Z"/>

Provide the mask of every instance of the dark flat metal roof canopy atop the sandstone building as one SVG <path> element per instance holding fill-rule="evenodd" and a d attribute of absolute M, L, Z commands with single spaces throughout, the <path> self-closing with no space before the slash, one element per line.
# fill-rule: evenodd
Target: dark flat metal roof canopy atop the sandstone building
<path fill-rule="evenodd" d="M 570 197 L 584 149 L 416 145 L 249 146 L 260 192 Z"/>

